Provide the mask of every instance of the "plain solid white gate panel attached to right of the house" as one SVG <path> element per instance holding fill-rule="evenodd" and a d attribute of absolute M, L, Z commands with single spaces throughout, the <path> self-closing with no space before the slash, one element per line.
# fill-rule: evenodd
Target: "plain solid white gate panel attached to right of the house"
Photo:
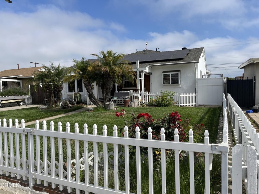
<path fill-rule="evenodd" d="M 222 106 L 222 93 L 224 92 L 223 78 L 196 79 L 197 105 Z"/>

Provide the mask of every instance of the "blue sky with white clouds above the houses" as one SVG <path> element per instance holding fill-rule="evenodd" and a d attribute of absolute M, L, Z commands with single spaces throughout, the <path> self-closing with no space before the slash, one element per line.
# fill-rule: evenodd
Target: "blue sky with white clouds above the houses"
<path fill-rule="evenodd" d="M 0 70 L 71 66 L 111 49 L 205 47 L 208 70 L 241 76 L 259 57 L 258 0 L 0 0 Z"/>

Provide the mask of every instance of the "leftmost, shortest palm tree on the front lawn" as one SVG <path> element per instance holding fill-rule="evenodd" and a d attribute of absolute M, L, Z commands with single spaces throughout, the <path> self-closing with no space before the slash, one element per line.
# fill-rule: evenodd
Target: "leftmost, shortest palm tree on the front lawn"
<path fill-rule="evenodd" d="M 34 89 L 41 85 L 49 102 L 51 102 L 51 94 L 56 93 L 57 104 L 62 98 L 63 84 L 67 82 L 67 77 L 71 72 L 69 67 L 61 67 L 60 64 L 56 67 L 51 62 L 50 67 L 43 65 L 42 71 L 35 71 L 34 77 L 31 79 L 34 83 Z M 54 99 L 53 99 L 54 100 Z"/>

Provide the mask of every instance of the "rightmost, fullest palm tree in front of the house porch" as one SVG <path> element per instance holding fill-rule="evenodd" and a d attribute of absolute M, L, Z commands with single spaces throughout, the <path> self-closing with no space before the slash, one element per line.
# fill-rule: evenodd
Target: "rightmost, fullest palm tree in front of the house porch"
<path fill-rule="evenodd" d="M 108 102 L 110 92 L 114 84 L 122 84 L 123 77 L 132 82 L 135 80 L 135 73 L 130 62 L 124 59 L 124 54 L 107 50 L 100 51 L 99 55 L 92 54 L 98 60 L 93 63 L 97 75 L 97 82 L 101 84 L 104 103 Z"/>

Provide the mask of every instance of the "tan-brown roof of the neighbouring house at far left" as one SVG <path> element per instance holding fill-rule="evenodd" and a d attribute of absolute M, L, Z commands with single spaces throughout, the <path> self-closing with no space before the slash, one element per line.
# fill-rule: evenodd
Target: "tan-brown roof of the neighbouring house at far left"
<path fill-rule="evenodd" d="M 0 71 L 0 77 L 17 76 L 18 78 L 33 77 L 34 71 L 40 70 L 43 67 L 28 67 L 19 69 L 8 69 Z"/>

